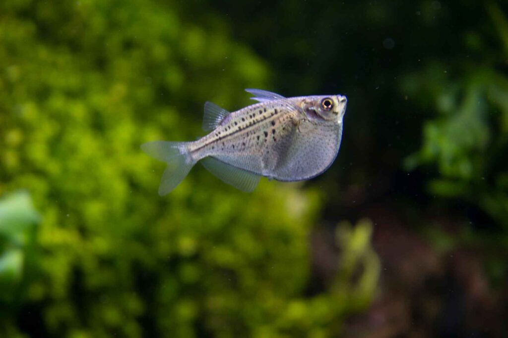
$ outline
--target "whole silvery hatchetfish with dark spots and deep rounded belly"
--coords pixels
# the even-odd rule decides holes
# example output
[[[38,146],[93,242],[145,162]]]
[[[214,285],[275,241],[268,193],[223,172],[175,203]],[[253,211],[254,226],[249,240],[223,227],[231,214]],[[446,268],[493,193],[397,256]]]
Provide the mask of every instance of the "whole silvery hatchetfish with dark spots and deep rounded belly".
[[[300,181],[320,175],[339,151],[347,99],[342,95],[286,98],[246,89],[259,103],[229,112],[205,103],[203,129],[192,142],[153,141],[141,148],[168,164],[158,193],[171,192],[200,161],[224,182],[245,192],[262,176]]]

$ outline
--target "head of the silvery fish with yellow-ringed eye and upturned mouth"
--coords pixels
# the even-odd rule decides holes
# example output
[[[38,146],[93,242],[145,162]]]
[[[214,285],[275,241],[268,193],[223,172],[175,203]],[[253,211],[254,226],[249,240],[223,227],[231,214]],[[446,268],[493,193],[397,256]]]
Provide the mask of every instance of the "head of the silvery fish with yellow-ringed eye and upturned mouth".
[[[309,120],[336,124],[342,123],[346,105],[347,98],[343,95],[308,96],[300,104]]]

